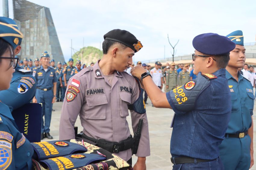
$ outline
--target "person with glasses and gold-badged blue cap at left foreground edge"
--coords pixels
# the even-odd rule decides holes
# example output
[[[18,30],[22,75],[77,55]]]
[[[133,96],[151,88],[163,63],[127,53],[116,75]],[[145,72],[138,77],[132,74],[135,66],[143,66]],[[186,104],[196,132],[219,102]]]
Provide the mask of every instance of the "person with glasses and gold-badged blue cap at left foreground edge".
[[[0,21],[2,20],[3,18],[1,17]],[[6,18],[6,20],[8,19]],[[0,91],[10,87],[12,74],[18,63],[18,58],[14,57],[14,50],[16,50],[22,37],[23,35],[13,26],[13,23],[0,22]],[[5,97],[8,98],[8,96]],[[19,132],[9,107],[1,101],[0,169],[30,170],[32,169],[31,157],[33,153],[32,145]]]

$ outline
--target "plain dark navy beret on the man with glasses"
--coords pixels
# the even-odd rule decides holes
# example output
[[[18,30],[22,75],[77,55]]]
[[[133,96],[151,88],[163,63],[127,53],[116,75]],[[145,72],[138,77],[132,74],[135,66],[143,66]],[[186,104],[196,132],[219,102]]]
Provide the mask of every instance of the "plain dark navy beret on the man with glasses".
[[[197,51],[208,55],[229,55],[236,47],[228,37],[214,33],[200,34],[193,39],[192,44]]]

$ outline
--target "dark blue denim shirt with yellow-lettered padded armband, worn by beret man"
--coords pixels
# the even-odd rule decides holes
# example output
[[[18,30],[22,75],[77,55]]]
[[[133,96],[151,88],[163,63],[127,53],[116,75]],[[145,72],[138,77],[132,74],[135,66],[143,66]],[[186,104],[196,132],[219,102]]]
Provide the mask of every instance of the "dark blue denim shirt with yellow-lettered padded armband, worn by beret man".
[[[213,73],[217,78],[207,79],[198,73],[195,80],[166,93],[176,113],[170,143],[172,157],[213,160],[219,156],[218,146],[231,114],[225,74],[226,69],[220,69]]]

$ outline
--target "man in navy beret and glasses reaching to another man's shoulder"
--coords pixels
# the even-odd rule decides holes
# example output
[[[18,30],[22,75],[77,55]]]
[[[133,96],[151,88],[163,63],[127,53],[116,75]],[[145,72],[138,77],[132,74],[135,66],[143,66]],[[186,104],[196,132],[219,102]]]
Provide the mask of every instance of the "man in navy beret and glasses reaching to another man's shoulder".
[[[153,105],[175,112],[170,153],[173,170],[223,170],[218,146],[231,115],[231,95],[225,67],[235,48],[229,38],[200,34],[193,39],[195,80],[163,93],[142,67],[131,70],[141,79]]]

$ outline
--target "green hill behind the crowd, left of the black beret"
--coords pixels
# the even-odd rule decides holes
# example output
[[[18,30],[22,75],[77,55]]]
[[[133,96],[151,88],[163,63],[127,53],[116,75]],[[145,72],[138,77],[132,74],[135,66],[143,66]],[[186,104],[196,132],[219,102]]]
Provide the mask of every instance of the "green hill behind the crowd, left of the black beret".
[[[81,48],[79,52],[72,55],[72,58],[74,59],[74,64],[78,59],[82,62],[82,64],[86,64],[88,66],[91,62],[97,62],[100,58],[102,58],[102,56],[103,52],[100,49],[88,46]]]

